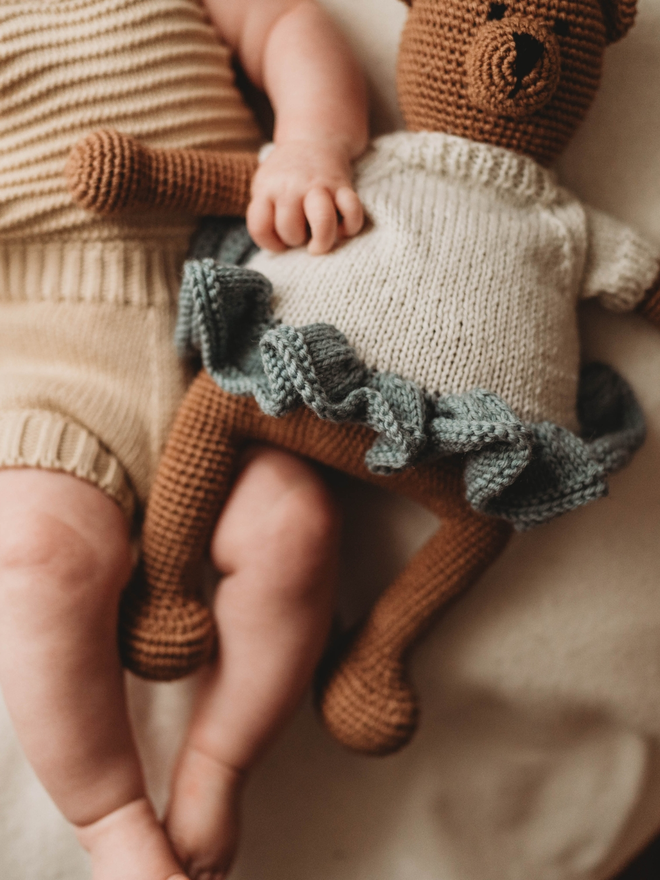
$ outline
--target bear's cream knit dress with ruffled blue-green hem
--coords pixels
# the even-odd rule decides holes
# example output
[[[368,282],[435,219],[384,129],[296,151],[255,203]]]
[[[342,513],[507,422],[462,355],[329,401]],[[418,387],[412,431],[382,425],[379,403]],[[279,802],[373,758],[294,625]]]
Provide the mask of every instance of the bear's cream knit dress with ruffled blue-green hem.
[[[265,412],[369,425],[373,470],[465,454],[471,503],[519,528],[602,495],[643,419],[613,371],[580,373],[577,306],[633,309],[660,249],[532,159],[443,133],[378,139],[355,186],[364,231],[253,256],[251,309],[235,270],[190,264],[184,347]]]

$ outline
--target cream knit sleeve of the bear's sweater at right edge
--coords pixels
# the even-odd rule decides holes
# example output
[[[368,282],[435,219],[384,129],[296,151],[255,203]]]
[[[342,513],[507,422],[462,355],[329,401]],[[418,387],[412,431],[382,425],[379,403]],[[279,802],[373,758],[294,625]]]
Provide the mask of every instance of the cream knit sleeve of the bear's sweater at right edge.
[[[635,308],[660,271],[660,247],[629,226],[585,207],[587,257],[580,296],[614,312]]]

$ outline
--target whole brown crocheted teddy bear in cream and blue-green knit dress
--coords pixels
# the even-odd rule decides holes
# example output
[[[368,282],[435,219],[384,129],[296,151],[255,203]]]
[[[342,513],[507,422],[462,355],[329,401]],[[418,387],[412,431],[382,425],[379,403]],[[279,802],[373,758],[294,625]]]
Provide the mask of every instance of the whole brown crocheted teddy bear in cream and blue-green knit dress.
[[[409,5],[398,59],[407,130],[357,163],[365,230],[323,257],[299,248],[185,268],[179,342],[203,369],[153,486],[144,579],[122,607],[124,654],[141,674],[173,678],[213,651],[186,574],[253,440],[427,506],[437,533],[322,676],[328,728],[373,754],[416,727],[405,658],[433,615],[513,528],[603,495],[643,440],[625,382],[604,365],[580,370],[578,302],[660,317],[658,248],[548,170],[634,0]],[[249,154],[149,150],[99,132],[68,175],[90,210],[240,215],[255,166]],[[230,245],[220,256],[244,250]]]

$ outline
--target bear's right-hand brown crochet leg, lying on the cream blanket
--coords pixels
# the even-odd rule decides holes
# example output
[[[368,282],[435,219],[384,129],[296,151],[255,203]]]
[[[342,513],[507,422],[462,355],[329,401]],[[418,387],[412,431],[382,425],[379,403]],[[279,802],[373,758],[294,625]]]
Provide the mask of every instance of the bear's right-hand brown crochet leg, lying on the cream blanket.
[[[418,469],[415,478],[424,470]],[[325,724],[339,742],[359,752],[390,754],[411,738],[418,704],[406,676],[406,653],[433,615],[497,558],[511,534],[507,523],[468,507],[454,463],[444,474],[436,468],[434,476],[434,491],[442,494],[425,499],[419,491],[405,494],[441,517],[438,531],[385,591],[348,652],[324,676],[319,703]],[[405,475],[395,477],[392,488],[404,491]]]

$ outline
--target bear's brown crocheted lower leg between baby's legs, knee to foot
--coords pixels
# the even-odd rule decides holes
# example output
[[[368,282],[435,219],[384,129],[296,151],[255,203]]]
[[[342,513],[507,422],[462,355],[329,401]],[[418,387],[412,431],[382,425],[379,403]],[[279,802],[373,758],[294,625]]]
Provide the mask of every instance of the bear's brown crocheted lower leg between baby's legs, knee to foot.
[[[145,517],[144,569],[120,608],[124,665],[145,678],[180,678],[215,648],[213,616],[186,578],[229,491],[238,453],[231,426],[244,400],[223,395],[202,371],[170,433]]]

